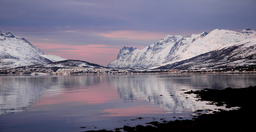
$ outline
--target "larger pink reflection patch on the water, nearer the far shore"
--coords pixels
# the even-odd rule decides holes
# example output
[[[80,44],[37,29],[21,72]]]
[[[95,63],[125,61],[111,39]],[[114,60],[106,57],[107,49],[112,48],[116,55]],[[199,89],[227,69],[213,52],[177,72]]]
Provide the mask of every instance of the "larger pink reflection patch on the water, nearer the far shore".
[[[75,88],[74,88],[75,89]],[[119,95],[115,88],[108,85],[96,88],[77,88],[72,91],[61,91],[59,95],[51,95],[51,93],[45,93],[43,98],[39,99],[39,102],[35,102],[34,105],[48,105],[48,104],[64,104],[69,105],[77,104],[103,104],[110,102],[110,100],[119,99]]]

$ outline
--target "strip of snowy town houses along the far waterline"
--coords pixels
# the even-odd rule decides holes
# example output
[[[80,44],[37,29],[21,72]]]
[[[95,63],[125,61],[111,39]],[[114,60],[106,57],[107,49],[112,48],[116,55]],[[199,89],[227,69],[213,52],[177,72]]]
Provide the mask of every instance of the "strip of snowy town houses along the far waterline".
[[[94,75],[94,74],[173,74],[173,73],[256,73],[253,68],[217,68],[196,70],[130,69],[130,68],[4,68],[1,75]]]

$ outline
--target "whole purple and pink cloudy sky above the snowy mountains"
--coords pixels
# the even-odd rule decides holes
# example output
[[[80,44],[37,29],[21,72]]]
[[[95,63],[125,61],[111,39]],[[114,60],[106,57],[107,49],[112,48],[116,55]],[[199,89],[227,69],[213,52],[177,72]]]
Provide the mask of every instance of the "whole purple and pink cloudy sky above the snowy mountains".
[[[214,29],[256,30],[255,0],[8,0],[0,3],[1,31],[24,37],[47,54],[56,51],[67,58],[104,65],[106,61],[114,61],[121,47],[143,48],[166,34],[187,36]]]

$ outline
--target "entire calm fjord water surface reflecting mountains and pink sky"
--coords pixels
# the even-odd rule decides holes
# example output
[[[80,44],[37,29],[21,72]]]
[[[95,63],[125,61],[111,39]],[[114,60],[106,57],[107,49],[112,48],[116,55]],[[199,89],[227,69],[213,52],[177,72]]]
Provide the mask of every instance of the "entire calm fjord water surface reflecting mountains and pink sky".
[[[224,107],[184,92],[254,85],[255,74],[0,76],[0,131],[113,130],[191,119],[195,110]]]

